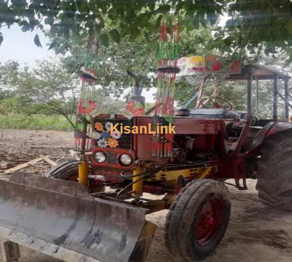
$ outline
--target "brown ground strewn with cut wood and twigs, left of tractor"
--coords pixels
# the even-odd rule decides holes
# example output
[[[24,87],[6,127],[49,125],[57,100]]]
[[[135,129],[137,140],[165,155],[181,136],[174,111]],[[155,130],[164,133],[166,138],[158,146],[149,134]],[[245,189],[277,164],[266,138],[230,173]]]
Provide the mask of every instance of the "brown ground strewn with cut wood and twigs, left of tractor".
[[[17,170],[42,175],[53,166],[76,158],[72,147],[58,146],[54,132],[43,133],[8,130],[0,134],[0,178]]]

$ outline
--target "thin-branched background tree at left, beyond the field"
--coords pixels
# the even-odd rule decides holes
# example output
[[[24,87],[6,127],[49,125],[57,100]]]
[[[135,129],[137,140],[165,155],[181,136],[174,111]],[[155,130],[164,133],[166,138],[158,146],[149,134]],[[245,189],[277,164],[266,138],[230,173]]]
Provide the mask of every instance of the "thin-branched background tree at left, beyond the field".
[[[1,103],[2,112],[22,114],[49,110],[64,116],[72,126],[79,89],[78,77],[59,61],[37,61],[35,69],[8,61],[0,67],[0,86],[10,98]]]

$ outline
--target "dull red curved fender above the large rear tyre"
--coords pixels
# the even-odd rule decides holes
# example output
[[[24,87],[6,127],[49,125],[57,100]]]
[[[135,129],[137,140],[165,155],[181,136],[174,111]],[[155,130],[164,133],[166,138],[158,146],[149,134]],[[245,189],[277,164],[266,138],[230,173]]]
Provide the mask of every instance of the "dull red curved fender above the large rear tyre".
[[[269,122],[266,124],[260,132],[255,136],[253,142],[248,148],[248,151],[252,151],[263,143],[265,138],[281,133],[285,130],[292,129],[292,123],[289,122]]]

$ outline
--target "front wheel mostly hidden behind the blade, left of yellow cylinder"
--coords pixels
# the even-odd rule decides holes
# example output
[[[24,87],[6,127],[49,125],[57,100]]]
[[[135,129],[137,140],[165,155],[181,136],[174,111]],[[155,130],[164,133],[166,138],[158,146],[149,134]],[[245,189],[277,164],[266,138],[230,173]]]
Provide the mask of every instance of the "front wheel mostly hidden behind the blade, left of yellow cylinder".
[[[78,182],[78,161],[70,160],[47,171],[44,177]]]

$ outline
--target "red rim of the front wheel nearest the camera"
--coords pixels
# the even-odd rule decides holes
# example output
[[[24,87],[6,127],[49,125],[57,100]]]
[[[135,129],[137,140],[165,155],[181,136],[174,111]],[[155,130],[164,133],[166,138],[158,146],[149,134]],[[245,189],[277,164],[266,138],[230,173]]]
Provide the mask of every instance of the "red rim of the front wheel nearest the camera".
[[[221,228],[223,201],[213,197],[203,206],[195,226],[195,241],[201,247],[210,244]]]

